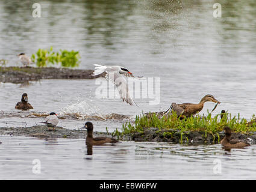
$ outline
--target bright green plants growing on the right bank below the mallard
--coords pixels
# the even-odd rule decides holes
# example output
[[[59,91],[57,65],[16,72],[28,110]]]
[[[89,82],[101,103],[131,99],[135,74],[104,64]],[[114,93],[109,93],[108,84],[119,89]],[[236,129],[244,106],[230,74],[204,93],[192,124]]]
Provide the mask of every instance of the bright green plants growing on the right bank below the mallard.
[[[256,131],[256,119],[253,115],[250,121],[245,118],[240,118],[240,114],[236,117],[232,117],[230,113],[226,113],[222,119],[218,118],[220,116],[211,116],[208,113],[207,116],[191,116],[189,118],[180,119],[176,114],[170,115],[169,117],[163,116],[163,118],[158,118],[155,114],[148,116],[140,115],[136,116],[135,122],[132,125],[130,122],[123,124],[122,133],[119,135],[125,135],[129,133],[142,133],[145,128],[155,127],[158,130],[180,130],[181,138],[184,132],[187,131],[204,131],[204,136],[207,134],[216,134],[223,130],[223,127],[228,126],[234,132],[248,133],[251,131]],[[164,133],[167,136],[167,133]],[[217,135],[217,140],[219,142],[220,138]],[[215,137],[214,137],[215,140]]]

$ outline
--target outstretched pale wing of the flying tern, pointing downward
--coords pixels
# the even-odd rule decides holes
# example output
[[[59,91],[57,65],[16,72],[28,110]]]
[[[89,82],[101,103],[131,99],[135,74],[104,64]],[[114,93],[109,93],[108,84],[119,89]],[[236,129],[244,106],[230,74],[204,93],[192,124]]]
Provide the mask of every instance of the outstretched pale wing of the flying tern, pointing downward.
[[[130,104],[131,106],[137,106],[137,104],[134,102],[133,98],[130,95],[129,86],[125,77],[115,71],[107,73],[106,78],[107,80],[110,80],[110,82],[114,83],[123,101]]]

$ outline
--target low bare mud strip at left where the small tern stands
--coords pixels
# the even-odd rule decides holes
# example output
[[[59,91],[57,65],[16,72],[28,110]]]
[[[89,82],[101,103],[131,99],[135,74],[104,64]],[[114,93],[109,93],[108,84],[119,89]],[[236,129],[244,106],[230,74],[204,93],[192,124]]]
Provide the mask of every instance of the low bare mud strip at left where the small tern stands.
[[[84,139],[86,138],[86,130],[69,130],[62,127],[56,127],[55,130],[48,130],[46,126],[33,126],[33,127],[1,127],[0,135],[11,135],[11,136],[28,136],[28,137],[39,137],[39,138],[70,138],[70,139]],[[108,136],[111,134],[103,132],[93,132],[96,136]]]

